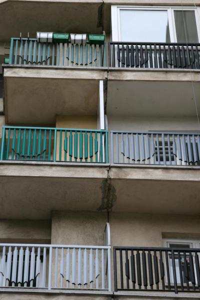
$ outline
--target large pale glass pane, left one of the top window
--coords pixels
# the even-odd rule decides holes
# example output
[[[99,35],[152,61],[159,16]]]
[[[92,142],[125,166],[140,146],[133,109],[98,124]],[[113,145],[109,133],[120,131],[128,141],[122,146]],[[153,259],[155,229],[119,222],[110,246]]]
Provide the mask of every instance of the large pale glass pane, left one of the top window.
[[[170,42],[167,10],[120,9],[120,33],[121,41]]]

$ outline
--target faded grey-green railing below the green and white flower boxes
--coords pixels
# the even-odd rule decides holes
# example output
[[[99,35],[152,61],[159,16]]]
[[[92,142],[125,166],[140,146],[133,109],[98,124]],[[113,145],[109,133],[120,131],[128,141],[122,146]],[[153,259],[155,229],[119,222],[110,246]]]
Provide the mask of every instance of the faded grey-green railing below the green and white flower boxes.
[[[9,64],[106,66],[106,45],[37,42],[36,38],[12,37]]]

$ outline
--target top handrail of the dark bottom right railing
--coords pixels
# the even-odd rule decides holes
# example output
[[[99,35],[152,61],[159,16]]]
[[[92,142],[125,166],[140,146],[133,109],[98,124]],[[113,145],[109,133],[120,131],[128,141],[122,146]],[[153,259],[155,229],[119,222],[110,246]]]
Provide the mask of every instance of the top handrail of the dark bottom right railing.
[[[131,247],[131,246],[113,246],[113,250],[155,250],[155,251],[192,251],[199,252],[200,248],[173,248],[173,247]]]

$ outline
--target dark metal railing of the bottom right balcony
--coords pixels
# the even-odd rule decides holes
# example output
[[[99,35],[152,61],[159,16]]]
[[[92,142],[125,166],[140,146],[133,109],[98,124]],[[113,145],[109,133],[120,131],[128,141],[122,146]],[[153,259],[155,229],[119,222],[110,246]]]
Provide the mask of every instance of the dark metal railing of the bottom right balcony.
[[[199,291],[200,249],[114,247],[114,290]]]

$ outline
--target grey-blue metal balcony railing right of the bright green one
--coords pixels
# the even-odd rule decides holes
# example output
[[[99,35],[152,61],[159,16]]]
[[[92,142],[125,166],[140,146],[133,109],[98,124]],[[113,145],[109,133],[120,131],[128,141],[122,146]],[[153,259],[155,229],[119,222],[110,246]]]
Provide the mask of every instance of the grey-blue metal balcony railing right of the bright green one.
[[[199,133],[111,131],[111,163],[199,165]]]

